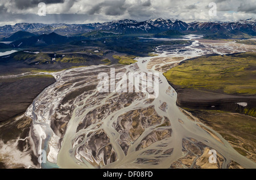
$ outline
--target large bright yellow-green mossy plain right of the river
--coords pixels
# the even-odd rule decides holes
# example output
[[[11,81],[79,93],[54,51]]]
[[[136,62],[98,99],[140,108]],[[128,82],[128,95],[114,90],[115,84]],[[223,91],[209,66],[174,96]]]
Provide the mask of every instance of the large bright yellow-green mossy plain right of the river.
[[[164,76],[180,88],[255,95],[255,58],[255,52],[203,56],[182,62]]]

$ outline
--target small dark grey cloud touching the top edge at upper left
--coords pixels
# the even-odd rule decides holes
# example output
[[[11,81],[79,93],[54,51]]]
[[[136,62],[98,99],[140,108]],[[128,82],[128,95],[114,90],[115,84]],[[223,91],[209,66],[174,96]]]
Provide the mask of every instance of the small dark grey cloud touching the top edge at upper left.
[[[16,8],[23,10],[29,7],[38,6],[39,2],[46,4],[64,3],[64,0],[12,0],[15,3]]]

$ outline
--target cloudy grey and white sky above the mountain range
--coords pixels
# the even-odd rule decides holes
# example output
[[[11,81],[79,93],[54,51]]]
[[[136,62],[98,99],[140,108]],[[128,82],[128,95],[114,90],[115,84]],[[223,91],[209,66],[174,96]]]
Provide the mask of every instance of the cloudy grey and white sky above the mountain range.
[[[46,16],[39,16],[40,2]],[[209,3],[216,3],[210,16]],[[213,11],[211,11],[213,12]],[[118,19],[256,19],[255,0],[0,0],[0,25],[15,23],[94,23]]]

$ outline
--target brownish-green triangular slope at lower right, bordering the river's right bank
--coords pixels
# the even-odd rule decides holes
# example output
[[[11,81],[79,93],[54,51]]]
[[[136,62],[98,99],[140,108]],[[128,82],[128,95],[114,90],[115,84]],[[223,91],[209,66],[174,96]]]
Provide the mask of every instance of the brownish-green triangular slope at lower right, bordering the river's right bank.
[[[255,161],[256,121],[254,117],[217,110],[187,109],[205,125],[217,131],[243,156]],[[249,155],[249,156],[247,156]]]

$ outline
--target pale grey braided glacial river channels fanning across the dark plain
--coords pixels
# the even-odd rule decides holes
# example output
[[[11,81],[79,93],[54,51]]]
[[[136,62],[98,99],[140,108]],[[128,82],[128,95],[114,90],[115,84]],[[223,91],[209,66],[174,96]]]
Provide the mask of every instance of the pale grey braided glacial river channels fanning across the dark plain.
[[[193,35],[186,36],[186,39],[194,40],[192,45],[184,47],[184,51],[170,50],[167,52],[160,50],[161,47],[159,47],[157,53],[159,54],[159,57],[184,57],[185,59],[207,54],[207,52],[198,48],[199,44],[195,38],[198,37]],[[155,71],[155,66],[150,70],[147,68],[147,64],[150,62],[151,58],[153,57],[137,58],[136,60],[138,62],[135,63],[135,65],[118,68],[125,72],[157,72]],[[166,65],[166,63],[163,63],[162,65]],[[96,133],[98,130],[102,130],[106,135],[108,135],[109,143],[112,144],[113,151],[117,155],[117,160],[115,162],[100,165],[101,168],[170,168],[172,162],[179,160],[181,157],[185,157],[183,151],[184,139],[193,139],[194,142],[201,142],[205,144],[205,146],[216,150],[218,152],[217,156],[220,155],[224,158],[221,168],[226,168],[231,161],[235,161],[245,168],[256,167],[253,161],[235,151],[220,134],[214,130],[210,130],[200,122],[192,121],[187,117],[187,115],[182,113],[179,107],[176,106],[177,93],[174,88],[168,84],[162,73],[159,73],[159,96],[155,98],[154,101],[146,103],[148,96],[140,96],[129,106],[122,107],[115,110],[113,113],[104,115],[103,118],[101,118],[101,121],[94,122],[88,128],[77,131],[77,127],[81,125],[81,122],[85,117],[90,115],[92,110],[105,105],[106,101],[110,98],[121,96],[116,93],[108,93],[107,95],[99,96],[97,89],[95,89],[89,94],[80,98],[75,98],[73,101],[75,107],[73,109],[70,106],[60,107],[63,97],[67,96],[72,89],[79,87],[79,85],[75,84],[79,82],[79,78],[81,78],[81,76],[85,79],[89,79],[91,77],[89,75],[90,73],[97,75],[102,71],[109,71],[109,67],[90,66],[55,72],[52,75],[55,76],[57,82],[45,89],[35,99],[30,108],[28,108],[26,115],[31,117],[34,122],[32,132],[34,132],[33,139],[35,140],[36,149],[38,151],[42,148],[47,152],[47,163],[42,164],[42,168],[56,168],[57,166],[59,168],[96,168],[96,164],[99,163],[97,160],[93,160],[88,153],[83,154],[79,152],[81,145],[88,143],[86,142],[86,138],[81,140],[79,143],[76,143],[76,139],[82,134],[85,134],[88,137],[90,134]],[[76,80],[76,83],[68,83],[71,79]],[[97,79],[94,79],[94,82],[92,80],[91,82],[86,83],[88,83],[88,85],[97,84]],[[58,87],[63,87],[63,89],[61,91],[57,91]],[[93,99],[93,101],[91,99]],[[97,104],[90,106],[90,102],[94,102],[96,100]],[[159,108],[163,102],[166,102],[166,110]],[[118,101],[115,103],[118,103]],[[148,134],[153,132],[157,126],[146,127],[142,135],[130,144],[127,154],[125,154],[118,143],[122,134],[115,128],[115,125],[118,122],[118,117],[124,113],[138,109],[145,109],[149,106],[154,106],[158,115],[169,119],[172,129],[171,136],[152,143],[146,149],[138,150],[136,149],[138,144],[141,143]],[[57,109],[61,108],[66,109],[66,112],[61,112],[62,114],[60,111],[57,112]],[[61,147],[58,145],[58,142],[60,141],[60,134],[52,130],[52,119],[56,114],[58,114],[58,117],[61,117],[61,115],[65,117],[65,115],[67,116],[67,114],[71,114],[70,120],[67,122],[67,130],[65,131],[64,138],[61,140]],[[208,128],[218,137],[219,140],[214,138],[199,125],[201,127]],[[173,148],[173,151],[170,156],[156,157],[154,153],[148,153],[147,155],[143,154],[145,150],[158,149],[160,151],[167,151],[171,148]],[[101,157],[101,155],[98,156]],[[160,163],[156,163],[154,166],[152,166],[151,163],[139,164],[137,163],[138,157],[146,158],[147,160],[160,159]],[[89,160],[92,161],[90,162]]]

